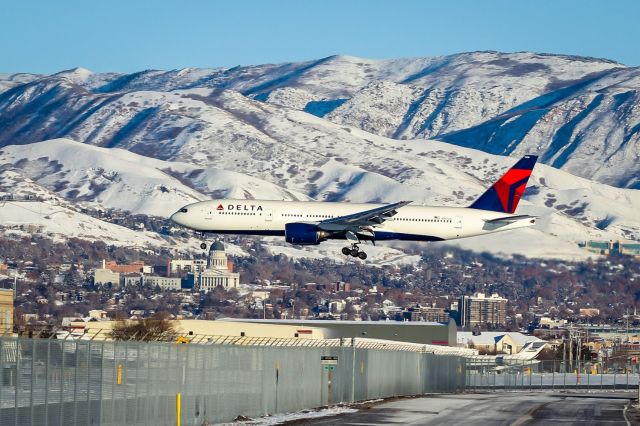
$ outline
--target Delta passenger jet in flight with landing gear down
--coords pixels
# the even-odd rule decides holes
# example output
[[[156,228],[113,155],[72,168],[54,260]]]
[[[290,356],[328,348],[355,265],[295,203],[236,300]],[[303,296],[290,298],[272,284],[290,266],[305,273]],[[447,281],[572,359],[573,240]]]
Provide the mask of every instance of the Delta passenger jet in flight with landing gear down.
[[[538,157],[525,155],[469,207],[356,204],[322,201],[216,199],[189,204],[171,220],[207,233],[284,236],[298,245],[346,240],[342,253],[365,260],[370,241],[444,241],[533,226],[535,216],[514,214]],[[202,242],[205,250],[207,245]]]

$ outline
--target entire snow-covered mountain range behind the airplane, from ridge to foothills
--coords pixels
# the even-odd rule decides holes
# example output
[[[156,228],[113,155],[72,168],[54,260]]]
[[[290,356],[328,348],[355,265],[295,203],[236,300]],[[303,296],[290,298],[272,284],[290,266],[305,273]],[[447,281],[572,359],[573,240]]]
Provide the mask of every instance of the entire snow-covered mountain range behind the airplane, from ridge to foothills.
[[[491,246],[455,244],[579,257],[581,240],[640,239],[640,192],[623,189],[640,185],[638,73],[602,59],[475,52],[0,74],[0,191],[54,200],[73,218],[62,228],[46,219],[47,232],[64,235],[75,223],[69,235],[88,238],[104,234],[93,231],[100,224],[83,216],[86,207],[167,217],[210,197],[463,206],[514,157],[538,153],[555,168],[536,167],[519,211],[540,216],[539,225],[498,234]],[[0,209],[0,220],[37,219],[19,213]],[[339,249],[272,243],[296,256]],[[410,261],[397,250],[373,251],[374,262]]]

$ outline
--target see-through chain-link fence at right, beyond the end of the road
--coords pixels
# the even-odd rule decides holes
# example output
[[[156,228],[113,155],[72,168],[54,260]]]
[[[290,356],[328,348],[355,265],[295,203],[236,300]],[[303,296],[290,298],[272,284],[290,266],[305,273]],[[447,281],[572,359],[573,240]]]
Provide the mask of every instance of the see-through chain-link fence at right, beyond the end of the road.
[[[467,389],[474,390],[631,390],[638,389],[635,365],[602,368],[598,363],[562,360],[467,358]]]

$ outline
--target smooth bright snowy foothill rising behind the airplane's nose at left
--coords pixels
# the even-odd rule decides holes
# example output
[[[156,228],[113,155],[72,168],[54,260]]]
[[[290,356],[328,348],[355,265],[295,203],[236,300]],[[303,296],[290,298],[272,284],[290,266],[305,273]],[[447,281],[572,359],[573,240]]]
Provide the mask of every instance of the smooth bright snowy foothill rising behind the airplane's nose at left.
[[[19,172],[71,200],[160,217],[210,195],[308,198],[237,172],[162,161],[69,139],[5,147],[0,151],[0,165],[15,168],[5,173]]]

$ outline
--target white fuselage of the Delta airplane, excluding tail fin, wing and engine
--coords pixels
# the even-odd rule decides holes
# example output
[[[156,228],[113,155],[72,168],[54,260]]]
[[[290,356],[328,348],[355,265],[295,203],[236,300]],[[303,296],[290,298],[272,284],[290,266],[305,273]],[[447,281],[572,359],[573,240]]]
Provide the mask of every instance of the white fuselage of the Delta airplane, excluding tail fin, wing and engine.
[[[211,233],[284,235],[293,222],[318,223],[384,204],[319,201],[210,200],[185,206],[171,220],[187,228]],[[532,226],[532,218],[511,223],[488,220],[513,216],[466,207],[408,205],[373,227],[375,240],[440,241]]]

